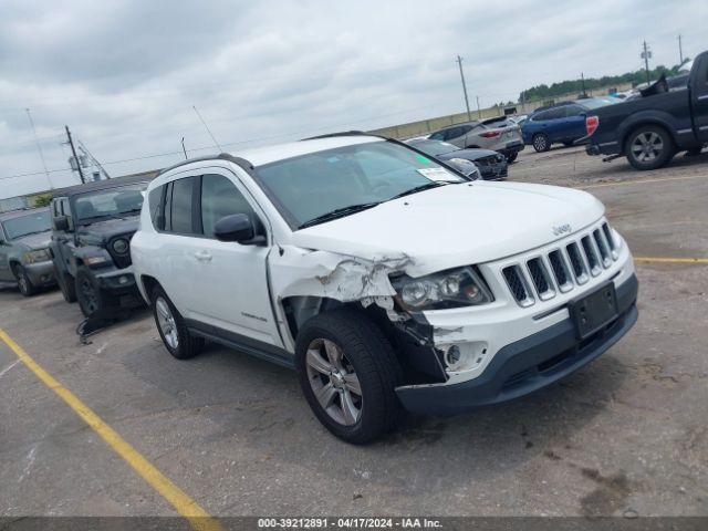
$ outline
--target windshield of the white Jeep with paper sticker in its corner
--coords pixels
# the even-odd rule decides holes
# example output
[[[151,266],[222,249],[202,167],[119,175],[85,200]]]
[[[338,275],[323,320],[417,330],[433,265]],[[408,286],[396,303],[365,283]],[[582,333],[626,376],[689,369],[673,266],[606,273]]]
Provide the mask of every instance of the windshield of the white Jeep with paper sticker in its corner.
[[[302,155],[259,166],[256,173],[292,228],[337,209],[387,201],[423,185],[466,180],[389,142]]]

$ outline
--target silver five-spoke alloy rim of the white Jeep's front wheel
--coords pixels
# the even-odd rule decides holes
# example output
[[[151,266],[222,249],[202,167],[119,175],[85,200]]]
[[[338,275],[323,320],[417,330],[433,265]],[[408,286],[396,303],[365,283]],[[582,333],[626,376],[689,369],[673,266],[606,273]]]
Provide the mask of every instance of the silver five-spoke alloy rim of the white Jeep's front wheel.
[[[305,355],[308,379],[322,409],[344,426],[356,424],[364,398],[358,376],[342,348],[334,342],[315,339]]]

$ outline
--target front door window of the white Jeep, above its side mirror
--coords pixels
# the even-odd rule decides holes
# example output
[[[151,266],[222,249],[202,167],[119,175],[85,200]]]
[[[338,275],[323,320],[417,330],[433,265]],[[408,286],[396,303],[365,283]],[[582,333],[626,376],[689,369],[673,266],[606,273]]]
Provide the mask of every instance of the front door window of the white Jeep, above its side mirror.
[[[222,175],[205,175],[201,178],[201,226],[207,238],[214,238],[214,227],[225,216],[256,212],[233,183]]]

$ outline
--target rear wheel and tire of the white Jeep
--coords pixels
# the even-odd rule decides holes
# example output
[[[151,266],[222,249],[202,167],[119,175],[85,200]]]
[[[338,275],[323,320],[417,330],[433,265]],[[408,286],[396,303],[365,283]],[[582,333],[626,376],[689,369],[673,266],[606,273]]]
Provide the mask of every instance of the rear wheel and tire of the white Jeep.
[[[167,352],[177,360],[189,360],[199,354],[205,345],[204,337],[189,333],[185,320],[159,285],[155,287],[150,295],[150,309]]]

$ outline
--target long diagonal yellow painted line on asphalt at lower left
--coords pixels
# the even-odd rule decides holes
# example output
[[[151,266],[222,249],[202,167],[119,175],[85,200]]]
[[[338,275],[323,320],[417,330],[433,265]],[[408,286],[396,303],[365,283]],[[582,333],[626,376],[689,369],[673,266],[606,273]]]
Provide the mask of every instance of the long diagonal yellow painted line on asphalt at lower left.
[[[175,510],[186,518],[191,527],[199,531],[220,530],[219,522],[205,511],[199,504],[189,498],[179,487],[165,477],[153,464],[145,459],[133,446],[121,437],[111,426],[104,423],[98,415],[81,402],[76,395],[60,384],[42,366],[37,363],[24,350],[18,345],[2,329],[2,340],[20,361],[32,371],[50,389],[56,393],[76,415],[79,415],[103,440],[127,462],[138,476],[159,492]]]

